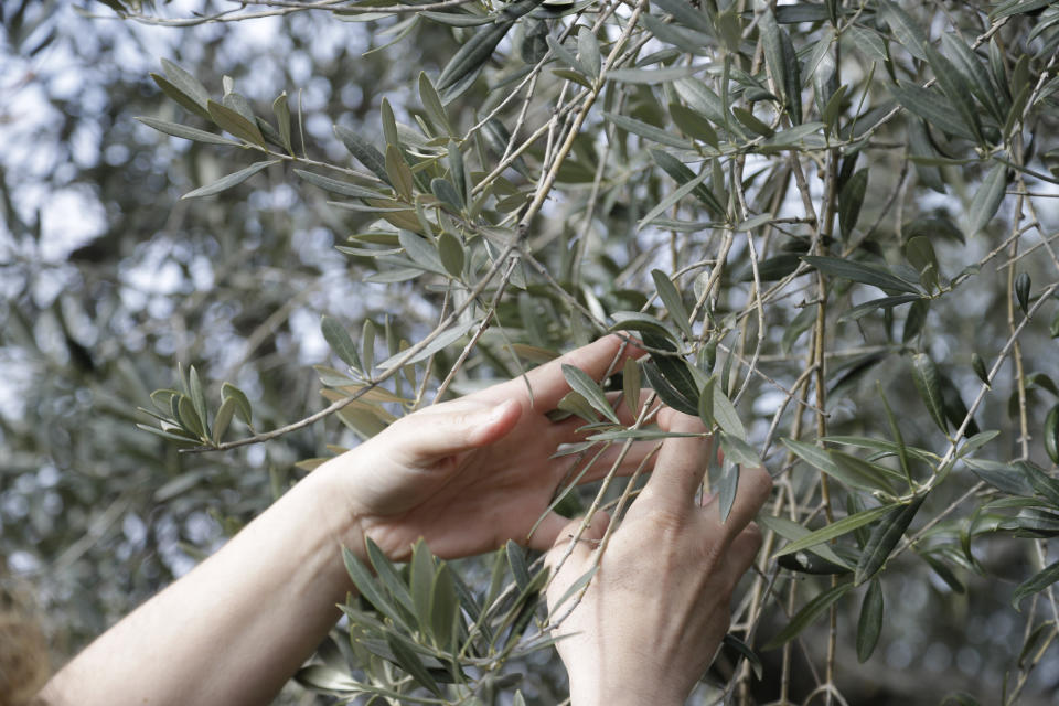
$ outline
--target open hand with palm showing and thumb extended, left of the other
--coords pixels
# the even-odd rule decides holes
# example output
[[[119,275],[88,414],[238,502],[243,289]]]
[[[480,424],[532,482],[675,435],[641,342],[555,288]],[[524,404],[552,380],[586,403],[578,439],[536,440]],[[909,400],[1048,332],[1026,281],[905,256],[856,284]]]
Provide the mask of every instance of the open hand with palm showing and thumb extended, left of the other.
[[[549,512],[527,535],[574,462],[552,456],[584,438],[582,420],[545,416],[570,391],[563,365],[599,379],[620,346],[621,339],[607,336],[523,377],[424,408],[313,473],[331,477],[353,524],[395,559],[407,557],[419,537],[440,556],[478,554],[507,539],[546,549],[564,517]],[[619,370],[639,353],[625,347]],[[628,417],[624,405],[622,411]],[[582,481],[606,473],[619,451],[611,447]],[[631,473],[649,451],[648,442],[634,443],[619,472]]]

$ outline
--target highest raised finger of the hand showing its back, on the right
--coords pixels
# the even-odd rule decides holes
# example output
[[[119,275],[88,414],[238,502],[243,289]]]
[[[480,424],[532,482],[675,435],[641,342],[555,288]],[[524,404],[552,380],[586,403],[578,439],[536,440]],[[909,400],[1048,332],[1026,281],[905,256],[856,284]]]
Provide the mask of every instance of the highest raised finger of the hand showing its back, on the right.
[[[698,417],[673,411],[665,416],[666,431],[700,434],[706,427]],[[660,425],[663,420],[660,419]],[[671,437],[662,443],[654,472],[644,491],[671,503],[672,507],[691,506],[695,491],[703,482],[712,443],[703,437]]]

